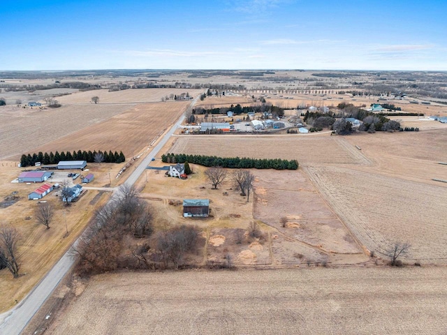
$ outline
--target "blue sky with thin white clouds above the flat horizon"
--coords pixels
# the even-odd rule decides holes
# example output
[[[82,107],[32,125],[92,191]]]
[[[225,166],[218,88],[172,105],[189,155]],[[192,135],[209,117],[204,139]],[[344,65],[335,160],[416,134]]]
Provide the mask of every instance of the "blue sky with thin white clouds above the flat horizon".
[[[0,70],[447,70],[446,0],[2,0]]]

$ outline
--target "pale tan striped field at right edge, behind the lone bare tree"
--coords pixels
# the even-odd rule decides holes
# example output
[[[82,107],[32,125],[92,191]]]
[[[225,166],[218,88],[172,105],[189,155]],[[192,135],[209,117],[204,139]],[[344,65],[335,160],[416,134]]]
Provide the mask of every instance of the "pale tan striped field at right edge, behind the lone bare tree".
[[[312,181],[369,251],[411,244],[409,261],[447,260],[447,187],[339,167],[307,167]]]

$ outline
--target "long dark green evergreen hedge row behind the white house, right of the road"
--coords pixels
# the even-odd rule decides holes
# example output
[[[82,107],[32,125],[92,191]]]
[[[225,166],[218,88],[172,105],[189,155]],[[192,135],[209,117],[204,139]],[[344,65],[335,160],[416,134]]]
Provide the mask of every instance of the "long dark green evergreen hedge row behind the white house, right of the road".
[[[275,170],[296,170],[298,161],[287,161],[286,159],[256,159],[256,158],[224,158],[217,156],[186,155],[186,154],[163,154],[163,163],[193,163],[210,166],[221,166],[230,169],[275,169]]]

